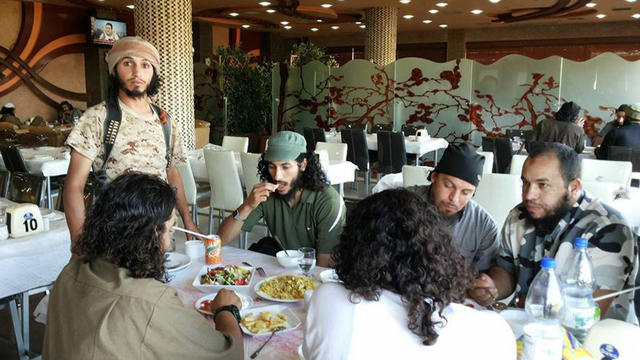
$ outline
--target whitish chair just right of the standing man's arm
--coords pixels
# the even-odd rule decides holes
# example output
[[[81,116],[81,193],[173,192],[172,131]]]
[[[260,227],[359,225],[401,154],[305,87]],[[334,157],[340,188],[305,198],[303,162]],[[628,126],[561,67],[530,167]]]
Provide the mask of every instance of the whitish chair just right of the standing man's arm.
[[[204,161],[209,175],[211,199],[209,201],[209,234],[213,234],[213,212],[220,212],[224,219],[225,211],[237,209],[244,201],[240,175],[232,151],[203,149]],[[221,221],[221,220],[220,220]],[[240,233],[240,247],[246,249],[246,234]]]

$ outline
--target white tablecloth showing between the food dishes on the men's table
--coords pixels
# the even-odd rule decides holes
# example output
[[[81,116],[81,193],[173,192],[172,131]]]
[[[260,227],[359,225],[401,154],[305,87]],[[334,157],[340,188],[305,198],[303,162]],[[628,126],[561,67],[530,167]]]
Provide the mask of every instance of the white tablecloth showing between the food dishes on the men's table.
[[[253,251],[241,250],[233,247],[225,246],[222,248],[222,263],[225,265],[240,265],[243,261],[247,261],[251,263],[253,266],[262,266],[267,273],[267,276],[279,275],[282,273],[295,273],[300,274],[300,270],[297,268],[294,269],[285,269],[280,264],[278,264],[277,260],[273,256],[259,254]],[[169,283],[170,286],[174,287],[178,290],[178,294],[180,295],[180,299],[184,303],[184,306],[187,308],[192,308],[195,311],[195,303],[196,301],[206,294],[200,292],[198,289],[194,288],[191,283],[193,279],[198,274],[198,271],[204,266],[203,260],[199,260],[197,262],[193,262],[189,267],[184,270],[181,270],[175,273],[175,277]],[[319,274],[324,268],[316,268],[312,271],[312,273],[316,276]],[[293,312],[300,318],[302,324],[295,330],[287,331],[284,333],[277,334],[271,339],[269,344],[265,346],[264,349],[260,352],[260,359],[274,359],[274,360],[298,360],[297,349],[298,346],[302,344],[304,338],[304,323],[306,320],[306,312],[303,308],[302,302],[298,303],[276,303],[268,300],[263,300],[257,297],[255,291],[253,291],[253,287],[257,284],[262,278],[256,273],[254,274],[253,279],[250,283],[250,296],[254,299],[254,307],[258,308],[260,306],[267,305],[285,305],[287,307],[292,308]],[[212,326],[213,326],[213,322]],[[251,337],[244,336],[244,356],[245,359],[249,359],[249,355],[253,353],[265,340],[267,337],[259,336],[259,337]]]

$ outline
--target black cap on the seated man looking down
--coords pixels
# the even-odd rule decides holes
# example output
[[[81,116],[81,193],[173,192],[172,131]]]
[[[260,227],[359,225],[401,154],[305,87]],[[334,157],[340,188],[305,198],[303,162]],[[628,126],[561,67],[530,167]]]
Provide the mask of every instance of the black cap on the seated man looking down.
[[[471,144],[449,144],[433,171],[451,175],[473,186],[478,186],[483,166],[484,156],[478,154]]]

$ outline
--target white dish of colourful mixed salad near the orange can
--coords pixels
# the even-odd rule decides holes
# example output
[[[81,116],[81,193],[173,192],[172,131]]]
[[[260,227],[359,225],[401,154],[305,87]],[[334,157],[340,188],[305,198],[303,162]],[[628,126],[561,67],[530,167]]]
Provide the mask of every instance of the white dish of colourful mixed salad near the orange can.
[[[220,289],[229,289],[237,292],[249,292],[249,285],[253,278],[254,269],[249,266],[239,265],[205,265],[196,278],[193,279],[193,287],[204,292],[213,293]]]

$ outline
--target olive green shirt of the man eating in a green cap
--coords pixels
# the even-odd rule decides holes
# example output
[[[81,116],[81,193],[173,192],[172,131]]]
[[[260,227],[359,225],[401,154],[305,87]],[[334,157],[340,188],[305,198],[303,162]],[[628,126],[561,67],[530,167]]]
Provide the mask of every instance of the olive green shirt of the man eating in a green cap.
[[[278,235],[287,249],[306,246],[318,254],[330,254],[340,240],[345,215],[344,201],[333,187],[303,189],[294,207],[270,196],[249,214],[242,230],[251,231],[264,218],[271,234]]]

